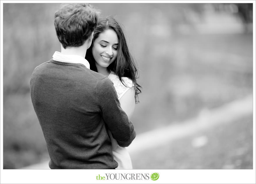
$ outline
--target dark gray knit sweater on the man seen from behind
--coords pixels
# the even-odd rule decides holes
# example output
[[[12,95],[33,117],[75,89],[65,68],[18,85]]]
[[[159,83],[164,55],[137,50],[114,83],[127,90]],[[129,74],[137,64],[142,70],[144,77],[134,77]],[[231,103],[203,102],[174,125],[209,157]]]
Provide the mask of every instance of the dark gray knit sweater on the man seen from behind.
[[[51,169],[115,169],[109,129],[122,147],[135,138],[108,77],[82,64],[54,60],[35,68],[33,107],[42,127]]]

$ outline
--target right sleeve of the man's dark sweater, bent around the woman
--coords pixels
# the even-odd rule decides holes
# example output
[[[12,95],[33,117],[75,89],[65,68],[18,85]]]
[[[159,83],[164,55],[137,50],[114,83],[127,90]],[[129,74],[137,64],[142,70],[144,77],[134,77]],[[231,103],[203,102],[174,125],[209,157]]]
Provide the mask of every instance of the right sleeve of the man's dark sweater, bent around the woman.
[[[134,126],[121,109],[115,88],[108,77],[99,80],[96,88],[96,100],[102,111],[102,117],[113,138],[121,147],[127,147],[136,136]]]

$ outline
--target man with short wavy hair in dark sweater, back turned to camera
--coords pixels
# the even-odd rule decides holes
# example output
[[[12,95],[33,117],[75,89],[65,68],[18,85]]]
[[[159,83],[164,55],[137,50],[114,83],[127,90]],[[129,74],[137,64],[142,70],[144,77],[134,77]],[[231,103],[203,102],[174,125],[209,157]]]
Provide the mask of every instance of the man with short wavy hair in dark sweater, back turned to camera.
[[[51,169],[115,169],[107,130],[122,147],[136,136],[112,82],[90,70],[84,59],[97,15],[90,5],[64,4],[54,21],[61,53],[55,52],[31,76],[31,99]]]

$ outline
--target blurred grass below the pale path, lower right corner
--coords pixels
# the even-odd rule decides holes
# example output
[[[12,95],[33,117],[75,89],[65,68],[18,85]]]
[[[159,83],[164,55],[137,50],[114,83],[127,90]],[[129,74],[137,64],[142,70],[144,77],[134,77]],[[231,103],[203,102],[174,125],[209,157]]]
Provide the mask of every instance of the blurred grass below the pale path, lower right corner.
[[[244,117],[132,154],[134,169],[253,169],[253,119]],[[193,147],[193,139],[207,143]],[[142,156],[144,155],[144,156]]]

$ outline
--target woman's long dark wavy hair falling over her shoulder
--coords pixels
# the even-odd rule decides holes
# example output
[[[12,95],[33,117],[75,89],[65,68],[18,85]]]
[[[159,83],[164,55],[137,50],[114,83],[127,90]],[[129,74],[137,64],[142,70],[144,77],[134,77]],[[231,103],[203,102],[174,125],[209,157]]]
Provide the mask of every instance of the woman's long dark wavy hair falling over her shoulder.
[[[107,70],[109,72],[113,71],[119,77],[119,80],[122,82],[122,84],[124,84],[124,82],[122,81],[121,77],[128,77],[132,80],[135,89],[135,102],[138,103],[138,94],[141,93],[141,86],[136,81],[136,79],[138,78],[138,70],[134,62],[134,59],[128,50],[128,46],[126,44],[126,39],[122,31],[122,28],[118,21],[116,21],[112,16],[106,18],[99,18],[97,22],[97,27],[94,31],[92,45],[86,51],[85,59],[87,59],[90,63],[90,69],[98,72],[97,67],[95,65],[96,61],[93,57],[92,48],[94,40],[97,39],[99,34],[108,29],[112,29],[117,34],[118,52],[116,59],[107,67]],[[126,86],[126,84],[124,85]]]

